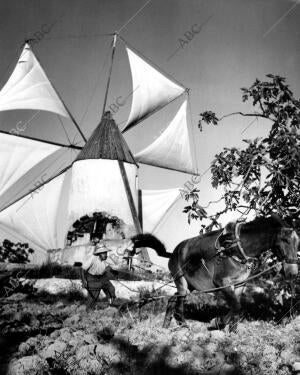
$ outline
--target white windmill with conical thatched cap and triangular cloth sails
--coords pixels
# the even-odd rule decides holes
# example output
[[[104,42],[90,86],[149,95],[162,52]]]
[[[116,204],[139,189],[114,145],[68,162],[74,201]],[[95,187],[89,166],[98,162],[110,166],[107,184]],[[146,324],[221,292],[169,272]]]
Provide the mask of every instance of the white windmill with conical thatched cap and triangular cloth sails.
[[[133,84],[131,111],[122,132],[106,111],[118,38],[125,44]],[[179,190],[140,190],[138,167],[148,164],[197,174],[188,130],[187,97],[184,86],[114,34],[102,118],[87,140],[26,43],[0,91],[0,111],[35,109],[69,118],[85,145],[0,132],[1,234],[28,242],[37,251],[35,261],[46,259],[50,253],[56,261],[73,264],[91,253],[87,236],[81,242],[72,242],[76,225],[85,219],[90,225],[89,219],[94,217],[89,235],[97,231],[99,215],[107,223],[118,222],[115,231],[108,233],[111,226],[104,228],[105,239],[113,250],[116,240],[126,241],[142,230],[153,232],[179,198]],[[152,144],[133,155],[123,134],[178,98],[184,101],[169,126]],[[33,182],[41,176],[37,186]],[[141,259],[149,261],[146,249]]]

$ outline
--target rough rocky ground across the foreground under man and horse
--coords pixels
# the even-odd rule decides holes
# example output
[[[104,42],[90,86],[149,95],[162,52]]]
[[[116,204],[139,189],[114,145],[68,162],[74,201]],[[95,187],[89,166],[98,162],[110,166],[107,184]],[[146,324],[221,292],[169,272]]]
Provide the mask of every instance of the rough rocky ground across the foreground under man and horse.
[[[84,297],[70,301],[45,291],[0,302],[1,374],[291,375],[300,362],[300,316],[244,320],[229,333],[195,320],[189,328],[173,322],[163,329],[163,299],[141,310],[102,301],[93,312]]]

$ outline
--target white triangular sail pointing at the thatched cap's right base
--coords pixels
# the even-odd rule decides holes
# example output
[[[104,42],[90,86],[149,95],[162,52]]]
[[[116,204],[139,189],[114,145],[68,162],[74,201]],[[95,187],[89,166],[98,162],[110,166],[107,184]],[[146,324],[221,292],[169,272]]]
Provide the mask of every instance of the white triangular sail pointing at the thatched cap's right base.
[[[196,174],[189,143],[184,101],[170,125],[148,147],[135,155],[138,162]]]

